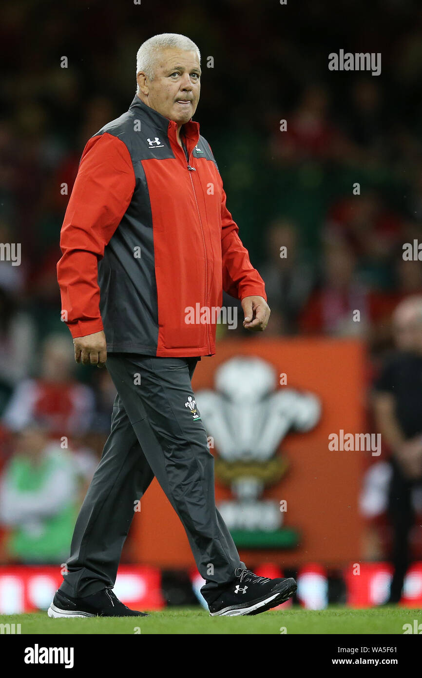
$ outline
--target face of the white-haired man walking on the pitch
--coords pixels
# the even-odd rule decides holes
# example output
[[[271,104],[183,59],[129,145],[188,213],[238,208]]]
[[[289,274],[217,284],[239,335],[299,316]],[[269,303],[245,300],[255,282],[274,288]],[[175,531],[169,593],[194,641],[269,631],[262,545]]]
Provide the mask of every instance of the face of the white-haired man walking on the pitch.
[[[156,60],[154,80],[138,74],[141,98],[154,111],[183,125],[198,106],[200,77],[201,66],[196,52],[163,49]]]

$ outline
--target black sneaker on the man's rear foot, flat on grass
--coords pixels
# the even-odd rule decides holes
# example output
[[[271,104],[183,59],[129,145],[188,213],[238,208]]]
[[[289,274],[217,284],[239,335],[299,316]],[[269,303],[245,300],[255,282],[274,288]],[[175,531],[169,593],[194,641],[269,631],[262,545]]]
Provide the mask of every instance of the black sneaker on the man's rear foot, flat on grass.
[[[53,602],[48,608],[49,617],[148,617],[146,612],[129,610],[129,607],[117,598],[111,586],[92,593],[85,598],[72,598],[56,591]]]

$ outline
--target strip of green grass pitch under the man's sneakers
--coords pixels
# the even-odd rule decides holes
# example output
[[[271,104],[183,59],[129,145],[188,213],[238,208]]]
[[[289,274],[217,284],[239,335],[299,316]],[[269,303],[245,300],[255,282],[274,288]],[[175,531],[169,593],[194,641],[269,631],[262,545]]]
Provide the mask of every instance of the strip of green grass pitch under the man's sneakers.
[[[403,624],[422,622],[422,610],[377,607],[351,610],[331,606],[326,610],[272,610],[257,616],[210,617],[196,608],[172,607],[149,617],[49,619],[46,612],[0,615],[0,624],[20,624],[24,634],[135,634],[141,635],[242,635],[242,634],[402,634]],[[284,631],[285,629],[285,631]],[[4,631],[3,631],[4,633]]]

